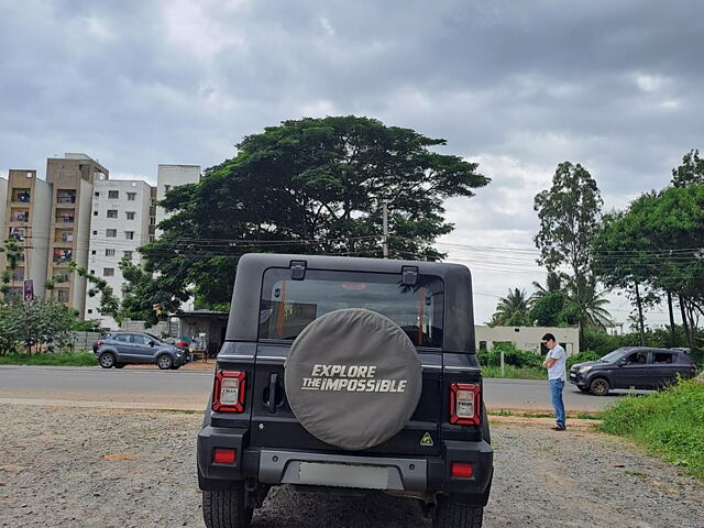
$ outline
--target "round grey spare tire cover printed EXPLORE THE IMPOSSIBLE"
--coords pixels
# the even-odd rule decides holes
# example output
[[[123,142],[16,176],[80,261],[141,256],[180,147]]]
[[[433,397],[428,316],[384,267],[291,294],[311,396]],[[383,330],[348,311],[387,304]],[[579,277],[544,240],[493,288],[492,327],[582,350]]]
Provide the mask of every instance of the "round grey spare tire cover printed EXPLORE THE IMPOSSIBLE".
[[[284,385],[298,421],[345,450],[378,446],[416,410],[422,372],[416,348],[394,321],[361,308],[331,311],[296,338]]]

